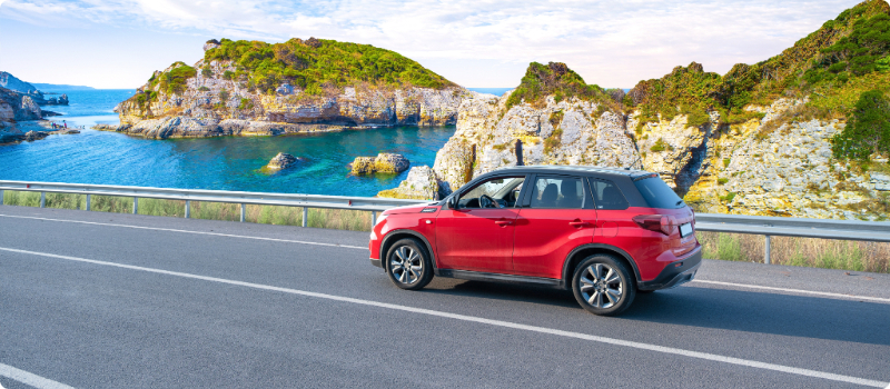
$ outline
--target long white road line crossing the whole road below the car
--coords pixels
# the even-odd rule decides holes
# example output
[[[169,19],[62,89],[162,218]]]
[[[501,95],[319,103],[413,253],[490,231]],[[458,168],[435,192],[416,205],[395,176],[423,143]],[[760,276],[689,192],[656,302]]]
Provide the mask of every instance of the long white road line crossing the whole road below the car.
[[[141,270],[141,271],[158,273],[158,275],[176,276],[176,277],[190,278],[190,279],[197,279],[197,280],[204,280],[204,281],[212,281],[212,282],[219,282],[219,283],[240,286],[240,287],[246,287],[246,288],[271,290],[271,291],[284,292],[284,293],[315,297],[315,298],[320,298],[320,299],[350,302],[350,303],[357,303],[357,305],[370,306],[370,307],[378,307],[378,308],[386,308],[386,309],[394,309],[394,310],[400,310],[400,311],[406,311],[406,312],[429,315],[429,316],[435,316],[435,317],[441,317],[441,318],[448,318],[448,319],[455,319],[455,320],[478,322],[478,323],[484,323],[484,325],[490,325],[490,326],[506,327],[506,328],[513,328],[513,329],[533,331],[533,332],[540,332],[540,333],[548,333],[548,335],[555,335],[555,336],[560,336],[560,337],[583,339],[583,340],[590,340],[590,341],[595,341],[595,342],[601,342],[601,343],[609,343],[609,345],[630,347],[630,348],[641,349],[641,350],[650,350],[650,351],[657,351],[657,352],[664,352],[664,353],[672,353],[672,355],[678,355],[678,356],[699,358],[699,359],[705,359],[705,360],[731,363],[731,365],[740,365],[740,366],[746,366],[746,367],[765,369],[765,370],[781,371],[781,372],[788,372],[788,373],[792,373],[792,375],[807,376],[807,377],[813,377],[813,378],[821,378],[821,379],[840,381],[840,382],[863,385],[863,386],[870,386],[870,387],[876,387],[876,388],[887,388],[888,386],[890,386],[890,382],[881,382],[881,381],[876,381],[876,380],[866,379],[866,378],[835,375],[835,373],[831,373],[831,372],[810,370],[810,369],[801,369],[801,368],[794,368],[794,367],[783,366],[783,365],[759,362],[759,361],[754,361],[754,360],[748,360],[748,359],[741,359],[741,358],[732,358],[732,357],[725,357],[725,356],[720,356],[720,355],[715,355],[715,353],[708,353],[708,352],[691,351],[691,350],[678,349],[678,348],[673,348],[673,347],[664,347],[664,346],[657,346],[657,345],[635,342],[635,341],[630,341],[630,340],[621,340],[621,339],[613,339],[613,338],[606,338],[606,337],[599,337],[599,336],[586,335],[586,333],[581,333],[581,332],[563,331],[563,330],[545,328],[545,327],[527,326],[527,325],[521,325],[521,323],[503,321],[503,320],[492,320],[492,319],[485,319],[485,318],[479,318],[479,317],[475,317],[475,316],[449,313],[449,312],[436,311],[436,310],[432,310],[432,309],[398,306],[398,305],[387,303],[387,302],[362,300],[362,299],[355,299],[355,298],[350,298],[350,297],[342,297],[342,296],[310,292],[310,291],[297,290],[297,289],[290,289],[290,288],[273,287],[273,286],[261,285],[261,283],[236,281],[236,280],[229,280],[229,279],[224,279],[224,278],[198,276],[198,275],[191,275],[191,273],[185,273],[185,272],[178,272],[178,271],[169,271],[169,270],[161,270],[161,269],[154,269],[154,268],[145,268],[145,267],[141,267],[141,266],[106,262],[106,261],[99,261],[99,260],[95,260],[95,259],[77,258],[77,257],[69,257],[69,256],[59,256],[59,255],[47,253],[47,252],[37,252],[37,251],[10,249],[10,248],[2,248],[2,247],[0,247],[0,250],[9,251],[9,252],[33,255],[33,256],[41,256],[41,257],[49,257],[49,258],[67,259],[67,260],[71,260],[71,261],[101,265],[101,266],[110,266],[110,267],[131,269],[131,270]]]

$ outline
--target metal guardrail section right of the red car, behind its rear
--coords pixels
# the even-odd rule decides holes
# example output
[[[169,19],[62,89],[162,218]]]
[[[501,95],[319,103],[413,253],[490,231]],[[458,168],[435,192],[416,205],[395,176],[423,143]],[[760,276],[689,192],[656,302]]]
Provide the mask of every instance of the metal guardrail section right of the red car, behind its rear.
[[[890,242],[890,222],[778,218],[765,216],[696,213],[695,229],[765,236],[763,261],[770,263],[770,237],[863,240]]]

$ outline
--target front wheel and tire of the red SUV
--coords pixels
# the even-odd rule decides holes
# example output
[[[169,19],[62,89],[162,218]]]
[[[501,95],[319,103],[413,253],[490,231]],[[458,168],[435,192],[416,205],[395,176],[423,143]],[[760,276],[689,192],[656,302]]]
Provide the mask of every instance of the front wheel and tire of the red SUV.
[[[418,290],[433,280],[433,261],[417,239],[399,239],[386,252],[386,275],[397,287]]]

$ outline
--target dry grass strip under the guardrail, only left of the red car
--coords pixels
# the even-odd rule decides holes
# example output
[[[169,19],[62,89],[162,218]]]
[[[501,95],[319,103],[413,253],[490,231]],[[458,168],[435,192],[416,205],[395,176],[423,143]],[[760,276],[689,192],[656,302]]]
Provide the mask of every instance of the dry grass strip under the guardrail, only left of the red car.
[[[40,207],[40,193],[7,190],[3,192],[3,203],[8,206]],[[47,193],[46,207],[86,209],[87,197],[85,194]],[[241,217],[241,209],[237,203],[192,201],[190,208],[189,217],[194,219],[238,221]],[[93,196],[90,199],[90,210],[130,213],[132,212],[132,198]],[[181,218],[185,216],[186,201],[139,199],[138,210],[139,215]],[[248,205],[245,210],[245,221],[264,225],[301,226],[303,208]],[[350,231],[370,231],[370,212],[309,208],[307,226]]]

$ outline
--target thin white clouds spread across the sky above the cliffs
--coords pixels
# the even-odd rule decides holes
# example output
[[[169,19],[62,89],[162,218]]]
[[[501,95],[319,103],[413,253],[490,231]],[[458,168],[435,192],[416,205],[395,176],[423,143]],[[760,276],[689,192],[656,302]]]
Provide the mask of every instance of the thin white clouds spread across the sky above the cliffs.
[[[775,56],[851,0],[216,1],[11,0],[0,18],[138,24],[207,38],[310,36],[398,51],[462,84],[514,86],[530,61],[562,61],[587,82],[632,87],[695,60],[725,72]],[[188,59],[191,60],[191,59]],[[462,63],[486,60],[491,66]],[[475,62],[479,63],[479,62]],[[497,63],[513,63],[498,68]]]

